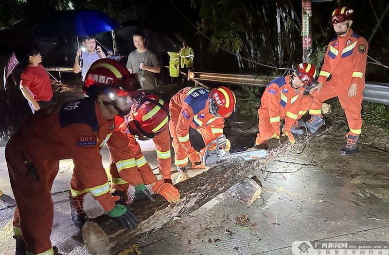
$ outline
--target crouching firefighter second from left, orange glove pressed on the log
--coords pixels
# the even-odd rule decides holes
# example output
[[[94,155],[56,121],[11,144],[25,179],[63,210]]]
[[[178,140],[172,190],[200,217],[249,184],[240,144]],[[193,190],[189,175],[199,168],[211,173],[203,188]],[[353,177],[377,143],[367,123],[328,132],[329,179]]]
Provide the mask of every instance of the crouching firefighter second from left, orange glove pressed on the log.
[[[90,70],[90,69],[89,69]],[[89,71],[93,73],[93,70]],[[88,79],[88,77],[87,77]],[[86,84],[88,80],[86,81]],[[166,132],[169,122],[169,110],[167,103],[155,95],[141,95],[135,98],[135,103],[131,106],[131,112],[125,118],[115,117],[115,128],[107,140],[110,156],[110,173],[112,175],[112,195],[119,196],[117,204],[125,205],[129,202],[128,187],[131,184],[135,187],[134,201],[148,198],[155,199],[150,195],[145,185],[151,185],[152,190],[163,196],[168,202],[178,202],[179,192],[171,183],[170,165],[169,173],[162,175],[165,179],[158,180],[147,163],[141,147],[135,140],[134,135],[144,135],[149,138],[159,137],[159,146],[169,146],[170,136],[167,138]],[[169,163],[169,161],[166,161]],[[162,163],[166,163],[162,162]],[[171,162],[171,161],[170,161]],[[169,163],[170,164],[170,163]],[[166,166],[163,170],[166,171]],[[88,193],[80,178],[73,174],[71,179],[71,191],[69,199],[71,205],[71,219],[76,227],[81,228],[87,220],[87,214],[83,207],[84,196]]]

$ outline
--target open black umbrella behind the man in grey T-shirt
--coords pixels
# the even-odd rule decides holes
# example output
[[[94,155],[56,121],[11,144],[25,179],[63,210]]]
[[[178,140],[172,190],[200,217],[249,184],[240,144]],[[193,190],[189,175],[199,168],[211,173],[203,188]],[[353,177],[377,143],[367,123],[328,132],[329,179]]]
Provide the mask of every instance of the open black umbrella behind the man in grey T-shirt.
[[[138,26],[121,27],[116,34],[132,42],[132,35],[135,31],[142,31],[144,33],[145,45],[155,52],[178,52],[180,49],[179,45],[166,35],[148,29],[142,29]]]

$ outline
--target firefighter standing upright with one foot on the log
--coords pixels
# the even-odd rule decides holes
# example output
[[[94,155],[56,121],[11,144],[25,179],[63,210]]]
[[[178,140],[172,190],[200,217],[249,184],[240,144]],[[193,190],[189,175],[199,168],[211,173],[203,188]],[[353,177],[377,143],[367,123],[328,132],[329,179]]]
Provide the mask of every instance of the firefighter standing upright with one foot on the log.
[[[322,102],[337,96],[350,128],[346,134],[347,143],[340,151],[341,155],[354,155],[358,152],[362,132],[362,93],[365,89],[369,45],[365,38],[351,29],[353,14],[353,9],[345,6],[332,13],[332,24],[337,37],[328,44],[318,85],[310,91],[314,101],[309,110],[311,119],[305,124],[312,133],[316,133],[324,123],[321,115]]]

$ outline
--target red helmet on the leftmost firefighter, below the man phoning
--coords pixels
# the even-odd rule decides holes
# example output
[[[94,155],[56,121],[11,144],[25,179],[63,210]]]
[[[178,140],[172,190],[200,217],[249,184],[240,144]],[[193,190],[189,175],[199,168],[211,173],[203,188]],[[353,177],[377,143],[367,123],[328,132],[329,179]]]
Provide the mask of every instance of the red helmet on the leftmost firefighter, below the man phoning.
[[[134,96],[138,94],[138,88],[141,88],[139,83],[123,65],[114,60],[99,59],[89,67],[83,90],[88,96],[97,96],[107,89],[116,96]]]

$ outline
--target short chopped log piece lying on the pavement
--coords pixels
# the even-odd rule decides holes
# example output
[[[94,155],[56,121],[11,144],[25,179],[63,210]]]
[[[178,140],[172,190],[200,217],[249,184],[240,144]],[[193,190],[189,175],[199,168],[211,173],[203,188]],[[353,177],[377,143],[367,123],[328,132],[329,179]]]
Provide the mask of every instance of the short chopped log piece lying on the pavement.
[[[251,206],[255,199],[261,196],[261,192],[262,187],[253,179],[246,177],[232,185],[226,191],[226,194],[230,195],[235,201]]]

